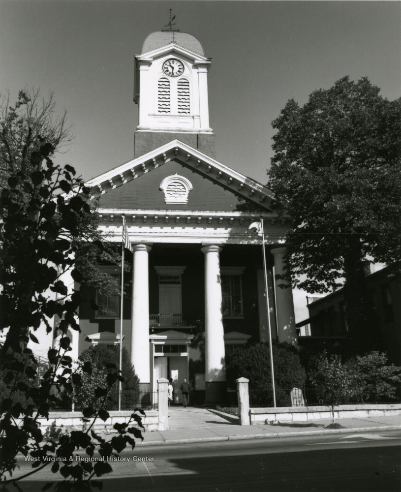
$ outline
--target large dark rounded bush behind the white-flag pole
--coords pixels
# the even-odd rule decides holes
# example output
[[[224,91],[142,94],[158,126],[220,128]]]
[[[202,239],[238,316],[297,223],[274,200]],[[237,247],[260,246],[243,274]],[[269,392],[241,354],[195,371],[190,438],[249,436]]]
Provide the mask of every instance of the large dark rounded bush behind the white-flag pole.
[[[303,388],[306,379],[297,349],[289,343],[273,343],[276,398],[279,405],[289,404],[289,393],[293,387]],[[230,370],[235,378],[249,379],[250,390],[270,391],[272,373],[270,351],[266,343],[256,343],[238,348],[231,357]],[[262,395],[262,394],[260,394]]]

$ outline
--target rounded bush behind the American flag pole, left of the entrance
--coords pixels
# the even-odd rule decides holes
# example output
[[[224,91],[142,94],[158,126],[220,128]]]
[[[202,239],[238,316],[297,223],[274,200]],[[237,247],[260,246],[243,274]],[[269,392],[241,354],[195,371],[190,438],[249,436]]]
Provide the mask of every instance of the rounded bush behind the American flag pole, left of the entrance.
[[[130,363],[128,352],[123,348],[122,358],[122,376],[124,383],[122,387],[122,400],[121,405],[123,409],[133,409],[137,404],[137,397],[139,392],[139,378],[135,374],[135,369]],[[107,387],[107,372],[113,372],[107,369],[110,363],[114,364],[116,368],[119,367],[120,362],[120,349],[119,347],[109,347],[107,345],[96,345],[90,347],[82,352],[79,356],[81,367],[87,361],[91,362],[92,374],[82,375],[83,386],[75,390],[74,400],[78,408],[85,408],[86,406],[96,406],[99,401],[96,398],[95,391],[97,387]],[[116,370],[116,369],[115,369]],[[119,400],[119,384],[116,381],[111,388],[109,398],[104,404],[106,410],[118,409]]]

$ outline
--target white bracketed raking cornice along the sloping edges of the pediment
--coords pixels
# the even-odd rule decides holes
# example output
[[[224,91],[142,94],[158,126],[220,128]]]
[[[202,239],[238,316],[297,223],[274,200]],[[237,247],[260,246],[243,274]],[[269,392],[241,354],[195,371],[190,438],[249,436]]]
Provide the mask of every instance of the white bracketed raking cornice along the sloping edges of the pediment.
[[[222,189],[231,191],[234,195],[246,201],[251,201],[266,211],[271,210],[273,193],[266,186],[179,140],[173,140],[147,154],[111,169],[88,181],[86,185],[91,190],[91,198],[96,198],[133,180],[146,179],[148,173],[177,161],[183,167],[200,174]]]

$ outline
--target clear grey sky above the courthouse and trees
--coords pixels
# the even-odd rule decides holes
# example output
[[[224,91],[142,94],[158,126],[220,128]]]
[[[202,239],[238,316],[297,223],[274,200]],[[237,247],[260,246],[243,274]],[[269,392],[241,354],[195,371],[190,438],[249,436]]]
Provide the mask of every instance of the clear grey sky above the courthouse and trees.
[[[58,162],[91,178],[133,158],[134,56],[169,8],[213,58],[217,159],[263,184],[288,99],[303,104],[345,75],[400,97],[399,1],[0,0],[0,88],[12,100],[26,85],[55,91],[75,135]],[[306,318],[304,293],[296,304]]]

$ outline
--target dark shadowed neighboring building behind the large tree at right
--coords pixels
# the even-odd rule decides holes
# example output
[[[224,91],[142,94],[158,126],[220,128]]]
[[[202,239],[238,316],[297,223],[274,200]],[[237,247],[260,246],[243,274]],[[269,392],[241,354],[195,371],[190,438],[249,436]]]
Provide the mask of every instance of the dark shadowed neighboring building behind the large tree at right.
[[[401,277],[399,266],[390,265],[372,274],[368,271],[366,284],[383,345],[391,362],[400,365]],[[307,300],[309,318],[297,323],[300,346],[324,347],[335,342],[345,343],[349,332],[343,289],[338,289],[324,297],[308,297]]]

